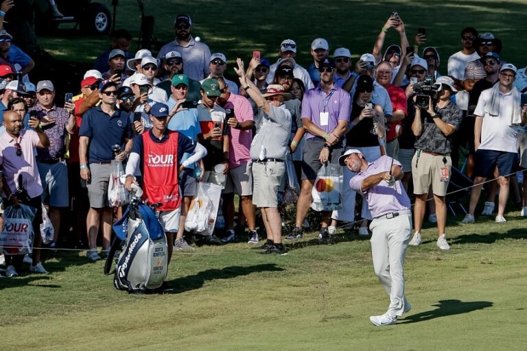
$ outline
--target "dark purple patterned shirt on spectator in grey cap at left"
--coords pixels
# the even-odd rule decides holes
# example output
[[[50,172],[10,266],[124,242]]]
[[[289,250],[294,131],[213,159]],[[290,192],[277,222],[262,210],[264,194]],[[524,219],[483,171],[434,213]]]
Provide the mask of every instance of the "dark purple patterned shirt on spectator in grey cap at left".
[[[49,148],[37,149],[36,159],[51,160],[64,156],[66,153],[66,136],[68,134],[66,130],[69,120],[68,110],[54,105],[50,110],[46,111],[40,104],[36,104],[33,108],[30,108],[31,110],[36,110],[38,119],[49,116],[55,121],[55,123],[42,128],[47,138],[49,138]]]

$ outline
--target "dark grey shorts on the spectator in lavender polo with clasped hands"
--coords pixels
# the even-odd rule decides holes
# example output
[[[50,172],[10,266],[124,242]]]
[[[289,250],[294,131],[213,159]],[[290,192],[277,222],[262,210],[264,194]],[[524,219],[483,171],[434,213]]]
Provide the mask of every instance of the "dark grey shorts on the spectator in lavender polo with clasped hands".
[[[316,173],[318,173],[318,170],[322,167],[322,163],[320,163],[318,158],[320,157],[320,152],[325,143],[326,142],[323,138],[309,138],[305,142],[301,180],[316,180]],[[342,142],[334,145],[329,154],[329,163],[338,164],[338,158],[343,152],[344,146],[342,146]]]

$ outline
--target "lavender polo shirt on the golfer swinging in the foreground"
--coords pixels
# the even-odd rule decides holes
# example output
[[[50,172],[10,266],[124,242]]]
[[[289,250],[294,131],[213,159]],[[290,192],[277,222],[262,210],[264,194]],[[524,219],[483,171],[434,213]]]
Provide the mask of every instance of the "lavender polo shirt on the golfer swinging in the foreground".
[[[379,184],[366,189],[366,191],[360,189],[362,180],[370,175],[389,171],[391,162],[391,157],[381,156],[377,160],[368,163],[366,171],[359,172],[349,181],[351,189],[362,194],[362,196],[366,196],[366,199],[368,199],[368,207],[373,218],[399,210],[409,210],[411,206],[410,198],[404,191],[400,180],[397,180],[394,186],[388,186],[386,181],[381,180]],[[402,168],[397,160],[394,160],[393,164]]]

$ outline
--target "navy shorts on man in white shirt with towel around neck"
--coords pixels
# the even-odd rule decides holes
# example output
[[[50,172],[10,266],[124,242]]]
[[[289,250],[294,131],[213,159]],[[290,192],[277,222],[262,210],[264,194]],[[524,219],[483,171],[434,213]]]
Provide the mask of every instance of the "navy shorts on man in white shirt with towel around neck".
[[[516,170],[518,154],[516,152],[478,149],[474,154],[474,175],[492,178],[495,167],[499,175],[511,175]]]

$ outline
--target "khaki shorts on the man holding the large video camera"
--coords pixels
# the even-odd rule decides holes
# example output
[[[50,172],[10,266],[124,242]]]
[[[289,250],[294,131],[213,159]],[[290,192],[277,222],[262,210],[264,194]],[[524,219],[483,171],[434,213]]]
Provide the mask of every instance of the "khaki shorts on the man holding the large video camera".
[[[432,192],[434,195],[447,195],[447,187],[452,171],[452,159],[450,158],[450,155],[432,156],[421,152],[421,155],[418,158],[417,154],[419,154],[419,152],[416,152],[414,158],[412,158],[414,194],[428,194],[428,190],[430,189],[430,186],[432,186]],[[443,158],[447,161],[446,164],[443,162]],[[449,178],[444,182],[441,181],[441,167],[448,168]]]

